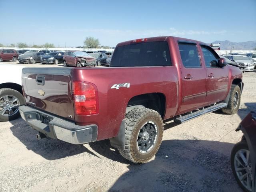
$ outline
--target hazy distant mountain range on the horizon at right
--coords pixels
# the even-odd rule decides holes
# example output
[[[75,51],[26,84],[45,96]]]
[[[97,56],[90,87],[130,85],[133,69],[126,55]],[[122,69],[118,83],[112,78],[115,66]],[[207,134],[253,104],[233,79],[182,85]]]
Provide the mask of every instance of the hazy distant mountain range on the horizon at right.
[[[256,41],[247,41],[247,42],[231,42],[228,40],[225,41],[214,41],[209,44],[218,44],[220,43],[220,50],[254,50],[256,48]]]

